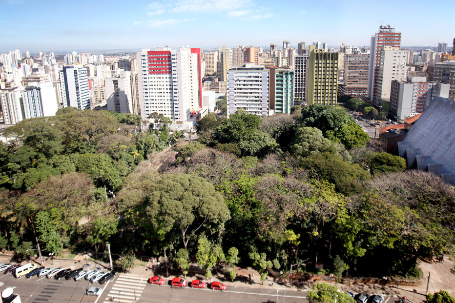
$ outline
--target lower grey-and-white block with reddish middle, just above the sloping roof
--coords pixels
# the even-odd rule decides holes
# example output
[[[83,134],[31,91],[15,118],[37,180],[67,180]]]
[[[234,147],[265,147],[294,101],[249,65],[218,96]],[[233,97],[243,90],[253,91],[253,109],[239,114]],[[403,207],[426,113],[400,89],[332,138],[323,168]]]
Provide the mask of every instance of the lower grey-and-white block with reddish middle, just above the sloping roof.
[[[409,82],[392,81],[389,113],[398,120],[417,115],[436,97],[447,98],[449,84],[427,82],[425,78],[410,77]]]

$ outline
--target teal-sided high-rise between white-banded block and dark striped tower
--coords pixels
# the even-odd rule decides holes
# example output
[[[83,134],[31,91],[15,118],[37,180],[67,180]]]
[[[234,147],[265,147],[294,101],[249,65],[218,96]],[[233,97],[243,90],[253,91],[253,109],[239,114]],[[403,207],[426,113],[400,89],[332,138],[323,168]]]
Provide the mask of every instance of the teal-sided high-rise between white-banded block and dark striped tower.
[[[276,66],[269,69],[269,109],[274,114],[290,114],[294,104],[294,71]]]

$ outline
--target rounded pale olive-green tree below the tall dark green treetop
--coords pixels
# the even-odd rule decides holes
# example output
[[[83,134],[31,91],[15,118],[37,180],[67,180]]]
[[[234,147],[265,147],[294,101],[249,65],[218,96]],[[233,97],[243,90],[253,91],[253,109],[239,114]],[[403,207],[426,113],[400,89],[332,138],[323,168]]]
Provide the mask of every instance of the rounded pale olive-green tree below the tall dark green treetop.
[[[290,145],[292,154],[308,157],[311,154],[328,151],[331,141],[324,138],[322,131],[315,127],[299,127]]]

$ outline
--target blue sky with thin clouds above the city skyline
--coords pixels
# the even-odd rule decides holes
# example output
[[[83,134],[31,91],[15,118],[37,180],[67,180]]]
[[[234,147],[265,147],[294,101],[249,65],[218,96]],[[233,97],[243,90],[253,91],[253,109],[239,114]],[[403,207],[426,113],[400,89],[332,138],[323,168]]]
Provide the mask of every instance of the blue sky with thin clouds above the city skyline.
[[[402,33],[401,45],[451,46],[454,15],[454,0],[0,0],[0,52],[282,46],[283,40],[361,47],[381,22]]]

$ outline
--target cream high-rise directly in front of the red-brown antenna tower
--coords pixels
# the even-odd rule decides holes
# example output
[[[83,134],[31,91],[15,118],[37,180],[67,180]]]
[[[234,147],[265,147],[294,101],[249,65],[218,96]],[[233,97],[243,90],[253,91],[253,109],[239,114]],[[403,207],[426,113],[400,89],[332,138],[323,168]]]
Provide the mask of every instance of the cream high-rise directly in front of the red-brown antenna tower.
[[[382,45],[379,55],[379,74],[377,81],[376,100],[390,99],[390,89],[393,80],[406,81],[406,50],[399,47]]]

